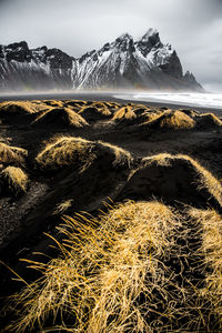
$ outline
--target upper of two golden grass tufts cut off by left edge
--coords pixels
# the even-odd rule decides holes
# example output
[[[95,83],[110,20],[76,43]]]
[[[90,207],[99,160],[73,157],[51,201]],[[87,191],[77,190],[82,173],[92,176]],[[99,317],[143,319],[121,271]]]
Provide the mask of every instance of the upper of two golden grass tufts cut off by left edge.
[[[11,147],[3,142],[0,142],[0,163],[21,164],[24,162],[24,158],[28,155],[28,151],[22,148]]]

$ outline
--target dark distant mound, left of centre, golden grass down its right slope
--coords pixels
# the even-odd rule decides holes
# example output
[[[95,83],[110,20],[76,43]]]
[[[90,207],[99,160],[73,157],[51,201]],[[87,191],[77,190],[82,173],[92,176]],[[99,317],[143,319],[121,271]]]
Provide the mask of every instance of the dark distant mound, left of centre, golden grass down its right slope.
[[[69,108],[52,108],[40,114],[33,122],[33,127],[72,127],[82,128],[88,122],[78,113]]]

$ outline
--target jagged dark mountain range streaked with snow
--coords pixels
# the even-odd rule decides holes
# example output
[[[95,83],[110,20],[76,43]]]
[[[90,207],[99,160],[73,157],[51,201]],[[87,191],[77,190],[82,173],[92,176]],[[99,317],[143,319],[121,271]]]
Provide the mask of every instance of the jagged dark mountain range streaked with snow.
[[[124,33],[79,59],[47,47],[30,50],[24,41],[0,46],[1,90],[101,88],[202,90],[154,29],[139,41]]]

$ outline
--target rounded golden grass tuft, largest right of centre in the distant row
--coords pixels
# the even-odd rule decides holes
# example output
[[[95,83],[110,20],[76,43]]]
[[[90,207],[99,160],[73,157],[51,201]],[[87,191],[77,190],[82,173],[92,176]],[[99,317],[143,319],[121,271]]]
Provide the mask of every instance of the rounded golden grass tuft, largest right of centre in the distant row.
[[[155,117],[153,115],[149,122],[144,124],[155,124],[161,129],[185,130],[193,129],[195,121],[184,112],[170,110],[157,114]]]

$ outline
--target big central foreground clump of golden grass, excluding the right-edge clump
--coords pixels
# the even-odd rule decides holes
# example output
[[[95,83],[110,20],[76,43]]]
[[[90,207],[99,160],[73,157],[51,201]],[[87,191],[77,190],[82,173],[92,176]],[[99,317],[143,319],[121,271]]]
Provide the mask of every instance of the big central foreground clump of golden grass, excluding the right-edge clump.
[[[46,332],[49,315],[61,315],[67,332],[153,332],[161,323],[164,330],[164,317],[173,321],[176,302],[169,302],[157,323],[152,315],[170,297],[161,260],[170,255],[180,226],[179,215],[159,202],[119,204],[99,220],[67,219],[60,228],[67,236],[59,244],[60,258],[30,262],[42,278],[14,295],[20,317],[7,330]],[[73,319],[70,326],[67,313]]]

